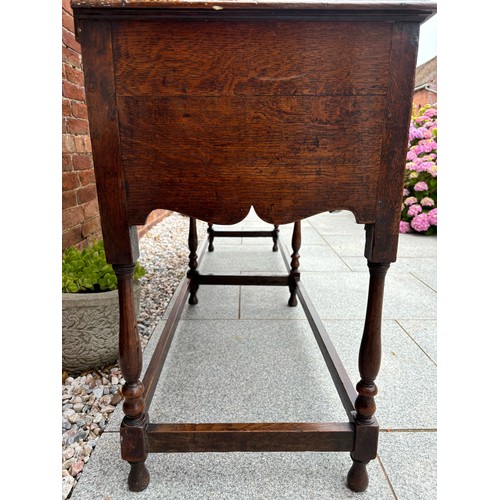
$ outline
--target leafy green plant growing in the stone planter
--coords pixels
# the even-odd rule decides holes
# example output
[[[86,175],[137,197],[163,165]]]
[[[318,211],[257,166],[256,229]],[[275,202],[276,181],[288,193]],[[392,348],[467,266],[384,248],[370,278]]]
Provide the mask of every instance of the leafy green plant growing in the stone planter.
[[[146,274],[139,262],[135,265],[134,279]],[[104,242],[96,241],[92,245],[78,250],[67,248],[62,259],[63,293],[105,292],[118,286],[115,271],[106,261]]]

